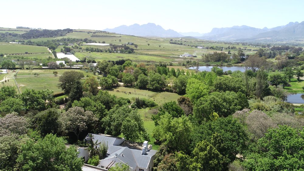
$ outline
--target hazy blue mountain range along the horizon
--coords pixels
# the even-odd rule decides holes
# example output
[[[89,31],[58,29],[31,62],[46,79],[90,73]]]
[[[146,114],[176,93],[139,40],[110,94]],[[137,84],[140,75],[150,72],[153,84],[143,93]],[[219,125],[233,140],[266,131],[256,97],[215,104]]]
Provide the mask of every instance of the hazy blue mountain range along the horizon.
[[[199,32],[176,32],[172,29],[165,30],[154,23],[133,24],[131,26],[119,26],[104,31],[116,32],[134,36],[155,36],[155,37],[184,37],[192,36],[197,39],[219,40],[219,41],[279,41],[304,38],[304,21],[289,22],[284,26],[277,26],[268,29],[254,28],[250,26],[232,26],[225,28],[213,28],[209,33]]]

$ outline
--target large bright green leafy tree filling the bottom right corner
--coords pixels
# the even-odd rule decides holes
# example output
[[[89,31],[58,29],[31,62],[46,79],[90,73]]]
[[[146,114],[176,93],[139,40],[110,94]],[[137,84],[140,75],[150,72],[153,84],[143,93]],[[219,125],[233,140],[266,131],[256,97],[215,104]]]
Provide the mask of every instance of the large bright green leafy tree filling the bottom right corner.
[[[242,163],[247,170],[301,170],[303,130],[287,125],[268,129],[258,140],[257,152],[250,153]]]

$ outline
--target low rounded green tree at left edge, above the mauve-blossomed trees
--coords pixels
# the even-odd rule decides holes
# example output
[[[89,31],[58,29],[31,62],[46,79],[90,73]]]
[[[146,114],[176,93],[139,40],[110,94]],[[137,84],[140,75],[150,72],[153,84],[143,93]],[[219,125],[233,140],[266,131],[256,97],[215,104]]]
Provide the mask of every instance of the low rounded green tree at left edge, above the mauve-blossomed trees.
[[[25,111],[24,103],[22,100],[17,98],[7,98],[6,100],[0,103],[1,112],[17,112]]]

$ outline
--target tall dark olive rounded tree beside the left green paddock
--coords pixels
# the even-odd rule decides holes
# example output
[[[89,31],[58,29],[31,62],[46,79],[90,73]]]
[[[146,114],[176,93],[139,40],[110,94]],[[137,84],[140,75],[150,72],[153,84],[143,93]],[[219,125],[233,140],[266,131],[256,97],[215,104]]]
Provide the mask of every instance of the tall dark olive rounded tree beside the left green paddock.
[[[72,86],[75,84],[77,80],[80,80],[84,75],[81,72],[77,71],[65,71],[61,77],[59,77],[60,87],[65,94],[69,94]]]

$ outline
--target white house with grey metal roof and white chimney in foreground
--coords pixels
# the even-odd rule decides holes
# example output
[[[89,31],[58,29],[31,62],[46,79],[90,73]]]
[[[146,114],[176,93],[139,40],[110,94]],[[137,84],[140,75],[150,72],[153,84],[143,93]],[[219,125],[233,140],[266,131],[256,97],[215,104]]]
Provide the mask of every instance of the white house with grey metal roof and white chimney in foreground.
[[[143,147],[140,149],[131,149],[127,146],[123,146],[124,138],[112,137],[110,135],[98,135],[92,134],[94,141],[105,142],[108,144],[107,156],[99,160],[98,167],[109,169],[115,166],[116,163],[127,164],[130,171],[151,171],[154,165],[156,150],[152,150],[152,145],[148,145],[148,142],[143,142]],[[84,150],[79,154],[81,158],[83,156],[89,156],[89,151]]]

